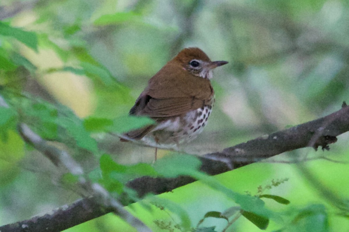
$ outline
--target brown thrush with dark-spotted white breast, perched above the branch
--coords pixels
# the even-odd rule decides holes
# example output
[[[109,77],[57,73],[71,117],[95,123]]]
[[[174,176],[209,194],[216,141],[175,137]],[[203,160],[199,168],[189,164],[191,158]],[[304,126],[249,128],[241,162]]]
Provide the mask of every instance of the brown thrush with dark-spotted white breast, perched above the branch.
[[[125,136],[163,148],[195,139],[207,125],[215,101],[212,70],[227,63],[211,61],[199,48],[183,49],[149,80],[129,111],[149,116],[156,124]]]

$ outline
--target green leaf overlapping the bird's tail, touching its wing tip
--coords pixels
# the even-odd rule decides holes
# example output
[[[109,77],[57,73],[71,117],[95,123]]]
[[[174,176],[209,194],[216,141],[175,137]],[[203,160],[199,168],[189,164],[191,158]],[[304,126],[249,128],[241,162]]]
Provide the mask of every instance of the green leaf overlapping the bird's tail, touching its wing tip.
[[[124,133],[151,124],[154,124],[154,120],[151,118],[124,115],[114,119],[114,125],[111,127],[111,131]]]

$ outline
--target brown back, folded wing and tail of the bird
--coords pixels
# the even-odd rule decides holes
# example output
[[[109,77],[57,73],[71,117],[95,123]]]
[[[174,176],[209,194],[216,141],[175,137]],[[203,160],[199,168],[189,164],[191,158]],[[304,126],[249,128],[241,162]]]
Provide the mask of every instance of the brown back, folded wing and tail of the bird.
[[[172,64],[169,62],[166,65]],[[129,114],[149,116],[161,122],[208,105],[212,96],[213,88],[209,80],[188,76],[187,71],[179,67],[164,67],[149,80],[148,87],[140,94]],[[146,126],[126,135],[141,139],[154,127]]]

